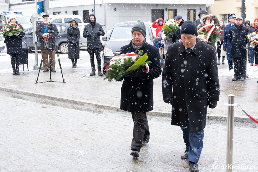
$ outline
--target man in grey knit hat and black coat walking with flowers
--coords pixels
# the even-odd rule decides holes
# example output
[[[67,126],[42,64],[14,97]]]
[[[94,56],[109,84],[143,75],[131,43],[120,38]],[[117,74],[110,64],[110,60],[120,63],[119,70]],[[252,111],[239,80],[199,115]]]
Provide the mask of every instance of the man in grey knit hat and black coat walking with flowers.
[[[139,157],[141,147],[149,142],[149,125],[146,112],[153,109],[153,79],[161,75],[160,55],[158,48],[146,42],[146,25],[138,22],[132,28],[132,41],[121,47],[120,54],[143,50],[147,53],[149,72],[135,70],[124,77],[121,88],[120,109],[131,112],[134,122],[131,156]]]

